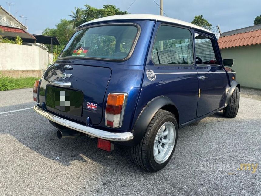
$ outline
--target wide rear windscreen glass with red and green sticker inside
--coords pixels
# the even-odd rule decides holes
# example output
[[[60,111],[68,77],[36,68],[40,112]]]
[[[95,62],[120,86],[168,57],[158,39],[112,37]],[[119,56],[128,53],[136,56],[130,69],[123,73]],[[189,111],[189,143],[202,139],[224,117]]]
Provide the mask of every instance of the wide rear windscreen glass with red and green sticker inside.
[[[97,26],[77,31],[60,57],[125,59],[133,48],[138,28],[131,25]]]

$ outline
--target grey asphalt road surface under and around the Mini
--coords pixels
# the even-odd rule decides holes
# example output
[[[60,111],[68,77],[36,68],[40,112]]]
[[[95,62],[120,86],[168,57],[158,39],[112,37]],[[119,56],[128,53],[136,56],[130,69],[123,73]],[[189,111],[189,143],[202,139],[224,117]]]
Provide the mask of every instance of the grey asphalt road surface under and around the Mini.
[[[0,92],[0,195],[261,195],[260,100],[242,93],[236,118],[180,129],[168,165],[149,173],[123,146],[58,139],[31,109],[32,89]]]

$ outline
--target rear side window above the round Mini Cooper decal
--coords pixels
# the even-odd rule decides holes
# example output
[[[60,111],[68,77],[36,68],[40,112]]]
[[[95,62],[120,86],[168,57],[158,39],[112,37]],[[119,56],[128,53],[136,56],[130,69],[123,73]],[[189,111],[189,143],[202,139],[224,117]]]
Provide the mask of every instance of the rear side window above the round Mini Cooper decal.
[[[193,64],[191,32],[174,26],[160,26],[153,46],[152,60],[155,64]]]

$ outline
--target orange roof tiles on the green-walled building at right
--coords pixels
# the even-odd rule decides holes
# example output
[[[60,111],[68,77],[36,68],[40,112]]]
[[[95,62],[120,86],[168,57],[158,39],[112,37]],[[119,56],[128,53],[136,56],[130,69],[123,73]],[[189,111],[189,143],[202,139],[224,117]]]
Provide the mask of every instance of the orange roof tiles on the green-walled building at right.
[[[223,36],[218,43],[220,49],[261,44],[261,29]]]

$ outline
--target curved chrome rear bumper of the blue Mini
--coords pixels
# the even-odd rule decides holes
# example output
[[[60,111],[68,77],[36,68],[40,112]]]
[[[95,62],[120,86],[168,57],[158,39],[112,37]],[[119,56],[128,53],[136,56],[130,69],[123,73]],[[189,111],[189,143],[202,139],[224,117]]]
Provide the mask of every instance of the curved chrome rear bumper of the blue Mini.
[[[46,112],[46,111],[42,110],[42,108],[39,107],[39,104],[36,104],[33,107],[33,109],[38,114],[44,116],[45,118],[47,118],[53,122],[56,122],[60,125],[68,127],[69,129],[73,129],[73,130],[88,134],[93,137],[98,137],[101,139],[117,141],[117,142],[125,142],[125,141],[129,141],[129,140],[133,139],[133,134],[131,132],[115,133],[115,132],[108,132],[108,131],[103,131],[100,129],[94,129],[92,127],[84,126],[84,125],[78,124],[76,122],[72,122],[72,121],[63,119],[63,118],[53,115],[49,112]]]

